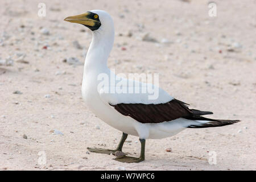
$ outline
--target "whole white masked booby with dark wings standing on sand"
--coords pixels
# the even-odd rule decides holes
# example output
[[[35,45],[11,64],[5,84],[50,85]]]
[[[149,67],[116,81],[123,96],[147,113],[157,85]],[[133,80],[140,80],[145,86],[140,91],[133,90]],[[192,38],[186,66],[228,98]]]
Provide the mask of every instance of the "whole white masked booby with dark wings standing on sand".
[[[82,98],[97,117],[123,132],[121,141],[115,150],[88,148],[90,152],[111,154],[122,151],[127,135],[135,135],[141,142],[139,158],[124,155],[115,160],[126,163],[142,162],[146,139],[171,137],[187,128],[218,127],[232,125],[239,121],[205,118],[202,115],[213,113],[189,109],[188,104],[176,100],[158,86],[114,75],[107,66],[114,42],[114,23],[112,17],[105,11],[92,10],[84,14],[68,16],[64,20],[88,27],[93,35],[84,64]],[[100,75],[108,77],[109,85],[99,86],[101,84]],[[122,85],[122,90],[151,86],[154,90],[158,90],[158,97],[150,98],[150,93],[147,92],[109,92],[109,90],[117,90],[117,84],[110,81],[110,77],[113,75],[115,80],[131,83],[128,86]]]

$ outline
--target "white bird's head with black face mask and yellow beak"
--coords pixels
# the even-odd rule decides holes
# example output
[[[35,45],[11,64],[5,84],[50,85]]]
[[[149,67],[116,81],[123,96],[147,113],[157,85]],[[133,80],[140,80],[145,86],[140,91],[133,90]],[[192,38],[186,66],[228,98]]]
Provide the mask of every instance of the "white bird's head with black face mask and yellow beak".
[[[64,19],[67,22],[79,23],[88,27],[92,31],[104,29],[105,31],[113,28],[113,20],[111,16],[102,10],[91,10],[84,14],[76,16],[68,16]]]

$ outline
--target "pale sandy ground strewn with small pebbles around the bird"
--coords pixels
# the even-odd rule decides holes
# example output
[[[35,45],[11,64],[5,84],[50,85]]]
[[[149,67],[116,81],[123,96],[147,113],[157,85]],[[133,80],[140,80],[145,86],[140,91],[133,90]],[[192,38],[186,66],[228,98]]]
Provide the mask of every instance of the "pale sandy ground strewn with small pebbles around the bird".
[[[1,1],[0,60],[14,63],[0,65],[0,169],[256,169],[256,1],[216,1],[216,17],[209,17],[203,0],[43,2],[45,17],[38,16],[39,1]],[[146,161],[138,164],[86,154],[86,147],[117,146],[122,134],[86,108],[83,66],[63,62],[76,57],[84,63],[92,39],[88,29],[63,19],[92,9],[114,19],[110,68],[159,73],[159,85],[173,97],[213,111],[212,118],[242,122],[148,139]],[[155,40],[143,41],[147,33]],[[138,138],[128,140],[123,150],[139,155]],[[40,151],[46,154],[43,166]],[[216,152],[216,165],[208,163],[209,151]]]

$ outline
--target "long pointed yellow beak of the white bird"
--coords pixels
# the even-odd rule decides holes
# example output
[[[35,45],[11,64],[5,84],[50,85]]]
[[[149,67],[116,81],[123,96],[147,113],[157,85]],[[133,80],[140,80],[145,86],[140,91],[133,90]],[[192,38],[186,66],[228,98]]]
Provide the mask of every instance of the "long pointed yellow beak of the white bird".
[[[76,15],[76,16],[68,16],[64,19],[64,21],[71,22],[71,23],[80,23],[84,24],[85,26],[93,27],[98,22],[97,20],[90,18],[91,13],[87,12],[84,14]]]

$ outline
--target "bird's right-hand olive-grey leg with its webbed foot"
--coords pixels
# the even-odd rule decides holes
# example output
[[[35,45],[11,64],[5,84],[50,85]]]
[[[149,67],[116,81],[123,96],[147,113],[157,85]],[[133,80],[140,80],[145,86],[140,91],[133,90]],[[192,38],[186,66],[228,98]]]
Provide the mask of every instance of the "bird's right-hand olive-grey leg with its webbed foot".
[[[134,158],[134,157],[124,155],[124,156],[118,156],[114,160],[117,160],[118,162],[122,162],[122,163],[139,163],[139,162],[142,162],[143,160],[145,160],[146,140],[139,139],[139,141],[141,142],[141,155],[139,156],[139,158]]]

